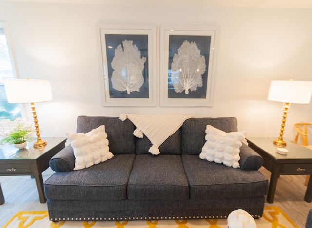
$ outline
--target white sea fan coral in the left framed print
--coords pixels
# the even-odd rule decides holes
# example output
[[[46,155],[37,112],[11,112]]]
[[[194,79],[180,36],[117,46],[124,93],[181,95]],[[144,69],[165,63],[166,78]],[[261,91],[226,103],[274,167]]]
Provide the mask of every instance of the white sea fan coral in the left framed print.
[[[112,74],[112,86],[117,91],[127,91],[130,94],[133,91],[140,91],[144,83],[143,69],[146,61],[141,58],[141,52],[132,40],[122,41],[115,49],[115,55],[111,63],[114,69]]]

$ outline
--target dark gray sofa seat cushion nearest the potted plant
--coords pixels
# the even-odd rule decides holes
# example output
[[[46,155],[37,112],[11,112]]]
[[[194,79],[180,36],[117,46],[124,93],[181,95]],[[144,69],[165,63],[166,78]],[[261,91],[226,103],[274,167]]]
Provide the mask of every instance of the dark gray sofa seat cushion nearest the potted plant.
[[[135,154],[117,154],[83,170],[57,172],[44,183],[45,195],[56,200],[122,200]]]

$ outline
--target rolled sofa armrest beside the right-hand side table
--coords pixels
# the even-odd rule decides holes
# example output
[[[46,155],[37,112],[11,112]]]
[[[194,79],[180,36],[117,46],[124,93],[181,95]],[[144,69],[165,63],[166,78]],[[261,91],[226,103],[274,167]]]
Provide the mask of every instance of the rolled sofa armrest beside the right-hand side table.
[[[240,147],[239,156],[238,162],[242,170],[258,170],[263,164],[263,158],[244,143]]]

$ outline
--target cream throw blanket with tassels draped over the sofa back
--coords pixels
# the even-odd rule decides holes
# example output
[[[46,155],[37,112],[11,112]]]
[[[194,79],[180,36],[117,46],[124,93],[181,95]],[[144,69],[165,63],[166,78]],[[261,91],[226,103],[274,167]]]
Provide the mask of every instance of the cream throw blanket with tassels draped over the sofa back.
[[[185,120],[192,115],[137,115],[121,114],[119,119],[127,118],[137,127],[133,134],[143,138],[143,133],[152,142],[153,146],[148,150],[150,153],[159,154],[158,147],[173,133],[175,133]]]

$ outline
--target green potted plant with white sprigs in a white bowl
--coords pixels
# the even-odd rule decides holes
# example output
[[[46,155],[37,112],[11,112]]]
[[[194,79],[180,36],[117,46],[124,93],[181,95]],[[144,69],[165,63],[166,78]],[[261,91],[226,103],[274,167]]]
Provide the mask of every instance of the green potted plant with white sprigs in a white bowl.
[[[0,135],[3,138],[0,144],[13,144],[16,148],[23,149],[27,142],[34,139],[35,128],[33,123],[22,118],[16,118],[14,121],[0,121]]]

